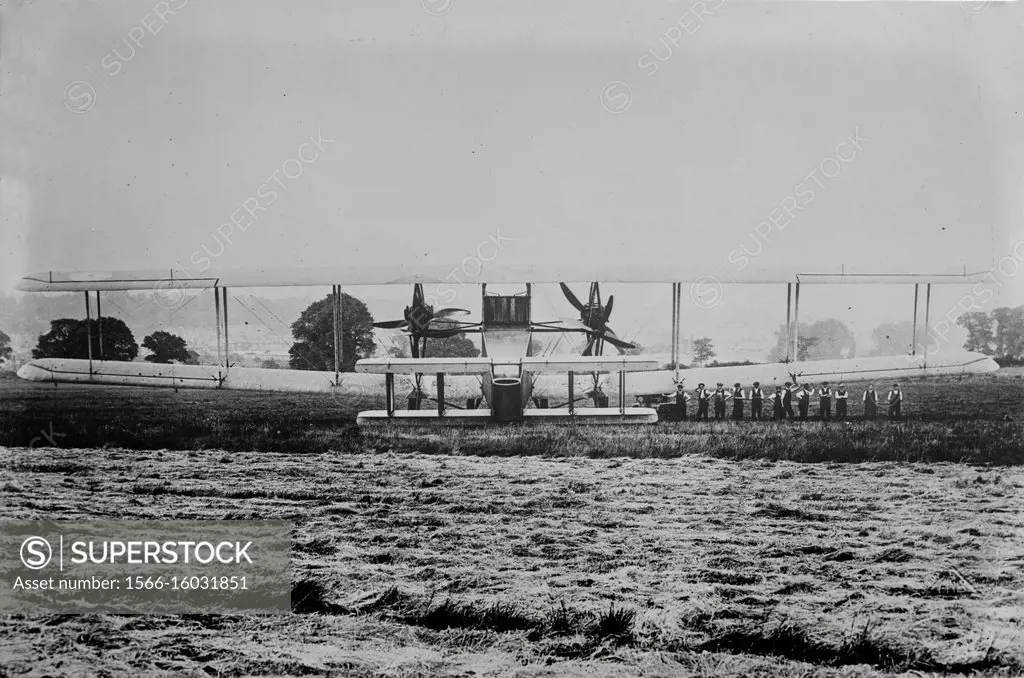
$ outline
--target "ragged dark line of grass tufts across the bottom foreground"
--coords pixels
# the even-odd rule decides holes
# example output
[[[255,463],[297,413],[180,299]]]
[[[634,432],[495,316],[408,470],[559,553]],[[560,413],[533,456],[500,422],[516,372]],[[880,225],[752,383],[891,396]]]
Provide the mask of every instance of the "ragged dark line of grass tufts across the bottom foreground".
[[[382,619],[430,631],[452,629],[499,634],[523,633],[548,653],[560,659],[593,658],[601,648],[632,646],[654,652],[727,652],[779,658],[805,664],[845,667],[869,666],[885,672],[941,672],[973,674],[991,670],[1024,670],[1019,660],[989,646],[971,659],[940,659],[932,649],[898,639],[870,619],[842,634],[828,635],[807,622],[773,618],[768,611],[756,619],[723,626],[713,616],[689,616],[668,624],[637,628],[637,612],[612,602],[604,609],[582,609],[561,601],[537,613],[515,602],[472,601],[445,598],[420,600],[392,586],[357,609],[329,601],[322,582],[302,580],[293,589],[297,613],[379,615]],[[314,600],[309,604],[308,600]],[[298,602],[297,602],[298,601]],[[571,637],[570,642],[565,638]]]

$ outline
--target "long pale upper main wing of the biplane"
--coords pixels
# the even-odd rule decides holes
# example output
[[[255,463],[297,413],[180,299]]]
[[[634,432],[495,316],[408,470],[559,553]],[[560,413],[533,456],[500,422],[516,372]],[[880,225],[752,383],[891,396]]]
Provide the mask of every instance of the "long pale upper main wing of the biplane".
[[[379,266],[314,266],[295,268],[223,268],[190,272],[180,266],[148,270],[48,270],[24,277],[23,292],[80,292],[92,290],[166,291],[214,287],[302,287],[329,285],[412,285],[415,283],[478,285],[519,283],[809,283],[809,284],[973,284],[987,271],[945,270],[923,273],[810,268],[746,268],[700,270],[687,265],[625,264],[590,268],[579,265],[500,266],[484,264],[476,276],[460,266],[388,264]]]

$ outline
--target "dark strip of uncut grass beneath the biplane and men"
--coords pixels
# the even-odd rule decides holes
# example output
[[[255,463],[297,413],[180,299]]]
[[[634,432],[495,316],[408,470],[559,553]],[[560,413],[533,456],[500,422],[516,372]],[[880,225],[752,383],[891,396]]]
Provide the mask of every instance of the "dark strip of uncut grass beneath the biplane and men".
[[[1024,370],[904,382],[906,421],[662,422],[635,429],[359,431],[380,402],[325,394],[59,386],[0,379],[0,446],[281,453],[393,450],[472,455],[1024,464]],[[855,388],[854,388],[855,390]]]

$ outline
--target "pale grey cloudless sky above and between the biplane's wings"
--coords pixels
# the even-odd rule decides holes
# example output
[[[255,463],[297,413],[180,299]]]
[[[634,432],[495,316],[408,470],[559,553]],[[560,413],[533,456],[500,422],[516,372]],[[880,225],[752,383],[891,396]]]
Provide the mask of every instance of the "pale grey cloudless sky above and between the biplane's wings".
[[[458,266],[500,234],[502,264],[724,282],[1004,260],[982,307],[1024,303],[1018,4],[3,7],[3,291],[45,269]],[[784,320],[784,290],[727,290],[688,316]],[[912,290],[837,290],[805,312],[909,320]],[[668,288],[615,293],[621,334],[668,312]]]

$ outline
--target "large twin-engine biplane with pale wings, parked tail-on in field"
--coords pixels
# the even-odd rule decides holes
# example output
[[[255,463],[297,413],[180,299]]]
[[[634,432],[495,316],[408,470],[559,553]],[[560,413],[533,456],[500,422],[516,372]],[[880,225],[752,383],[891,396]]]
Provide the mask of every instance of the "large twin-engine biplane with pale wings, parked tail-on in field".
[[[697,383],[749,384],[765,387],[786,381],[855,381],[902,379],[915,376],[985,373],[998,369],[989,356],[957,351],[918,353],[918,306],[925,286],[925,326],[928,327],[932,285],[974,285],[984,271],[940,273],[857,273],[839,271],[800,272],[774,270],[730,276],[730,285],[784,285],[786,289],[786,358],[782,363],[680,370],[682,287],[707,282],[709,277],[682,276],[678,270],[648,265],[616,266],[614,269],[580,270],[548,267],[508,267],[488,264],[473,279],[480,287],[480,322],[458,320],[469,314],[464,308],[438,308],[427,303],[425,285],[451,285],[447,268],[421,269],[376,266],[345,268],[225,269],[201,277],[180,270],[47,271],[26,276],[17,289],[26,292],[83,292],[86,317],[92,317],[95,293],[96,316],[101,313],[103,291],[151,291],[184,294],[189,290],[213,290],[218,365],[160,365],[104,361],[102,337],[93,354],[90,338],[87,359],[34,359],[18,370],[31,381],[88,383],[173,388],[214,388],[293,392],[334,392],[377,395],[385,399],[383,410],[361,412],[360,425],[368,424],[487,424],[513,422],[581,422],[594,424],[647,424],[657,421],[655,405],[671,397],[678,387]],[[586,302],[570,284],[589,284]],[[657,361],[623,354],[633,344],[608,326],[613,297],[602,300],[601,283],[671,284],[672,369],[660,369]],[[532,290],[541,284],[557,284],[566,301],[580,313],[579,320],[536,321]],[[854,357],[830,361],[796,361],[802,285],[909,284],[914,286],[914,349],[909,354]],[[333,372],[271,370],[232,366],[228,340],[228,289],[251,287],[331,286],[334,317]],[[402,317],[377,323],[380,329],[399,330],[410,340],[412,357],[365,358],[355,372],[341,372],[341,288],[369,285],[408,285],[412,303]],[[488,292],[488,285],[522,286],[515,294]],[[91,327],[91,325],[90,325]],[[100,326],[101,328],[101,326]],[[480,335],[481,355],[475,358],[430,357],[427,346],[463,332]],[[586,336],[580,355],[530,354],[530,339],[537,333],[565,332]],[[606,346],[617,354],[604,354]],[[793,359],[791,359],[793,358]],[[408,394],[399,398],[398,394]],[[584,407],[579,404],[585,402]],[[429,404],[429,407],[426,407]],[[401,407],[404,406],[404,407]]]

